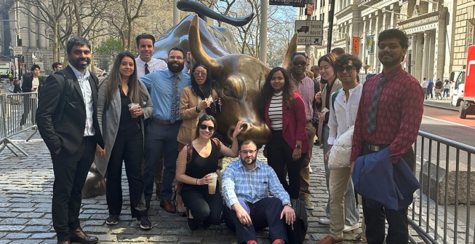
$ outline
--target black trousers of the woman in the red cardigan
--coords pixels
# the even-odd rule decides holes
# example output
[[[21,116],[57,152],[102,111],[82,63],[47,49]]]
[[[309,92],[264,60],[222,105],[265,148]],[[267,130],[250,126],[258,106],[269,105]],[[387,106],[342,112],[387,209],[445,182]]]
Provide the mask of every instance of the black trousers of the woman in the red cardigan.
[[[282,137],[282,131],[272,131],[272,139],[266,145],[268,164],[271,166],[280,183],[291,196],[291,199],[298,199],[300,195],[300,168],[306,153],[300,159],[293,161],[291,148]],[[287,172],[287,173],[286,173]],[[288,175],[288,182],[286,176]]]

